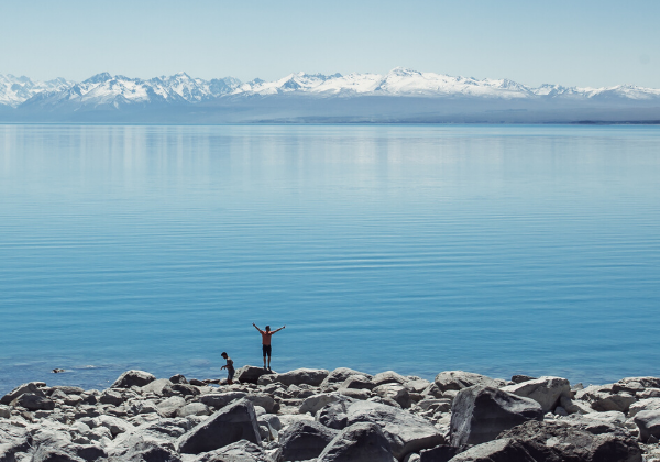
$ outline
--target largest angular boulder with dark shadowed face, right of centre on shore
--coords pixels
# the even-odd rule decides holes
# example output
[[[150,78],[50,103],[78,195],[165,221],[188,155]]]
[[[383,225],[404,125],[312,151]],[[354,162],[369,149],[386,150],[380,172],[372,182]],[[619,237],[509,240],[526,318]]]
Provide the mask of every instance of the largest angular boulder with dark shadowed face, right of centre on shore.
[[[451,407],[451,444],[480,444],[527,420],[542,420],[541,405],[490,386],[464,388]]]

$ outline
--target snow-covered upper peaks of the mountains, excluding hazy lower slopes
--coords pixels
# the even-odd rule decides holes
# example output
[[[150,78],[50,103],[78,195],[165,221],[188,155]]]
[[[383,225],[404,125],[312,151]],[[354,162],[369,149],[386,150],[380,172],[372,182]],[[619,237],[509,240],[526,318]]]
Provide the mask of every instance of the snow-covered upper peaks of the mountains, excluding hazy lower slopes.
[[[660,89],[619,85],[604,88],[563,87],[543,84],[530,87],[510,79],[476,79],[396,67],[387,74],[293,73],[277,80],[258,78],[248,82],[233,77],[205,80],[185,72],[151,79],[110,73],[97,74],[81,82],[64,78],[33,81],[25,76],[0,75],[0,106],[18,108],[82,107],[122,108],[131,105],[196,105],[250,96],[300,96],[352,98],[361,96],[415,98],[479,98],[497,100],[565,101],[660,101]]]

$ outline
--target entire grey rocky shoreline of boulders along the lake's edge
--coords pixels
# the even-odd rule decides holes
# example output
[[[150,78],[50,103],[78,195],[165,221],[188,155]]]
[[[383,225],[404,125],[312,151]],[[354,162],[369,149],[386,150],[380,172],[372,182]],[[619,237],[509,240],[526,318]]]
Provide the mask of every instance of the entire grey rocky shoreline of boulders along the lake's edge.
[[[244,366],[234,380],[20,385],[0,399],[0,462],[660,462],[660,377]]]

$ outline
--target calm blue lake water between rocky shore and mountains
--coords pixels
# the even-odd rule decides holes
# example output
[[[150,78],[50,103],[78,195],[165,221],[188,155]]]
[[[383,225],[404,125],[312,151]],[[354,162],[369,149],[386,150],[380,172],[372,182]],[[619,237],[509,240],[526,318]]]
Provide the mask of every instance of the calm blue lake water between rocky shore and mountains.
[[[0,125],[0,392],[660,375],[657,127]],[[55,367],[67,370],[51,374]]]

